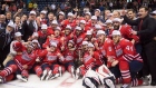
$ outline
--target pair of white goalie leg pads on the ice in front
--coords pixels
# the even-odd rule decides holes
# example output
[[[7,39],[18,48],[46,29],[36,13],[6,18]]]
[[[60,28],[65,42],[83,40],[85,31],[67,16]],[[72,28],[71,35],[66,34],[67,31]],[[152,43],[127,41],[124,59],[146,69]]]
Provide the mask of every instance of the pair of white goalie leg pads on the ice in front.
[[[86,88],[98,88],[98,86],[104,86],[105,88],[116,88],[115,76],[105,65],[97,68],[97,70],[91,70],[89,68],[84,76],[82,86]]]

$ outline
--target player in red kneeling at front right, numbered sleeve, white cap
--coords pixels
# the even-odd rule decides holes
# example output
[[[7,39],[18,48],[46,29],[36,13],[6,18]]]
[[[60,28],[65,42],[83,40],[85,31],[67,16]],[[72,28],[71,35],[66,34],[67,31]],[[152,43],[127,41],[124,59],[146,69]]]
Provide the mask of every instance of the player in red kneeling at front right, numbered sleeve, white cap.
[[[118,30],[113,31],[113,40],[115,43],[116,59],[111,60],[110,70],[115,74],[116,78],[119,75],[123,78],[121,88],[129,88],[130,86],[148,85],[147,80],[136,78],[136,74],[143,68],[143,59],[136,52],[133,42],[121,38]]]

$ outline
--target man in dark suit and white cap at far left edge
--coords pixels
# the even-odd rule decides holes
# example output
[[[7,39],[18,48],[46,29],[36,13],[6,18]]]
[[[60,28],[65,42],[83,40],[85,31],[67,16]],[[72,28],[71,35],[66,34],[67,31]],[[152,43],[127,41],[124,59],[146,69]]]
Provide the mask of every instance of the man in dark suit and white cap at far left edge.
[[[10,51],[10,42],[12,40],[11,32],[13,31],[14,25],[10,21],[6,29],[0,30],[0,65],[2,66],[3,60]]]

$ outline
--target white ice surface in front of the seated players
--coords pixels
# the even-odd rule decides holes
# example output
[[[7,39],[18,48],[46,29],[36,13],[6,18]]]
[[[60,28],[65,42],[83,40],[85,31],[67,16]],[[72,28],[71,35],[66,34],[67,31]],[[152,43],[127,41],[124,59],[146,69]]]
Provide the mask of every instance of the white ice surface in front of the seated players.
[[[85,88],[81,86],[81,79],[75,80],[68,72],[65,72],[62,77],[47,81],[41,81],[36,75],[30,75],[28,82],[13,80],[3,85],[0,84],[0,88]],[[120,86],[118,85],[117,88],[120,88]],[[156,88],[156,86],[139,86],[134,88]]]

